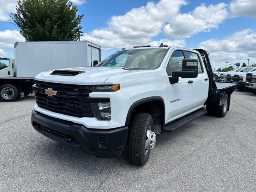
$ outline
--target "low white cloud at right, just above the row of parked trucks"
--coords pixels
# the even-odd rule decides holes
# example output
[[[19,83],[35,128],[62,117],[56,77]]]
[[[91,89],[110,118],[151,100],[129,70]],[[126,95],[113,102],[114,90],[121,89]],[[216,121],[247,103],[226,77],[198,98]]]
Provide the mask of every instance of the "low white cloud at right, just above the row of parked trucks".
[[[256,32],[251,29],[236,32],[222,40],[210,39],[198,46],[210,52],[214,66],[226,66],[225,62],[256,63]]]

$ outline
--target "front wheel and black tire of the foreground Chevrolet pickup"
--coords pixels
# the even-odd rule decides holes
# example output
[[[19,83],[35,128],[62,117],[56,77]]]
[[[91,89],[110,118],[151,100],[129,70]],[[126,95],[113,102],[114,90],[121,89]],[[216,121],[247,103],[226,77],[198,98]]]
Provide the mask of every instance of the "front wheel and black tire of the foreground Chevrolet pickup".
[[[150,151],[155,146],[156,134],[152,116],[148,113],[138,113],[130,130],[128,156],[130,162],[143,166],[148,162]]]

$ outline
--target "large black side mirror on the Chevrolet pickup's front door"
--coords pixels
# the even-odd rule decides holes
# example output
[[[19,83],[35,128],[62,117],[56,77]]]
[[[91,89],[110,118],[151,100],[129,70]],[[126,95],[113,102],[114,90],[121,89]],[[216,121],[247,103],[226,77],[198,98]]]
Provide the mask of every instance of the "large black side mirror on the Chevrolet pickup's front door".
[[[183,59],[182,70],[173,71],[172,77],[196,78],[198,76],[198,59]]]

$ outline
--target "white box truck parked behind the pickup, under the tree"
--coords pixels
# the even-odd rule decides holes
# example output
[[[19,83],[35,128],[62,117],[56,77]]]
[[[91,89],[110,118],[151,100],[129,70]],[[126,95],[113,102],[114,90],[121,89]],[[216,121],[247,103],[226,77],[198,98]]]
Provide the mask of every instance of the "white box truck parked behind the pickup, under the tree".
[[[16,42],[14,58],[0,58],[0,100],[15,101],[32,92],[34,77],[60,68],[100,62],[101,47],[88,41]]]

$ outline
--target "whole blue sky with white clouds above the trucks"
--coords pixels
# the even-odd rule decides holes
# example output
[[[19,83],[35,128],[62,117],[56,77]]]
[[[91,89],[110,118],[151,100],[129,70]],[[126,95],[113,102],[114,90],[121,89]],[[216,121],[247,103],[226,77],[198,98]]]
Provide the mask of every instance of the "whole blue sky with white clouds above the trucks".
[[[1,0],[0,56],[13,56],[23,40],[4,21],[16,0]],[[205,48],[214,67],[224,62],[256,62],[256,0],[72,0],[79,14],[82,40],[102,46],[106,57],[122,47],[141,44]]]

